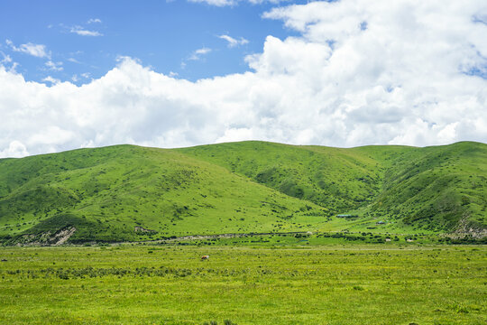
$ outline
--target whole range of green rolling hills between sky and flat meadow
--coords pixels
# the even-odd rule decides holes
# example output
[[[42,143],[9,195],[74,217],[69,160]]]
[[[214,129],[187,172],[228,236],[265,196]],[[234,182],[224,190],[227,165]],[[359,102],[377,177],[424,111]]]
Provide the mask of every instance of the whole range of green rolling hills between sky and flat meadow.
[[[487,228],[487,145],[115,145],[0,160],[7,243]],[[337,214],[351,218],[337,218]]]

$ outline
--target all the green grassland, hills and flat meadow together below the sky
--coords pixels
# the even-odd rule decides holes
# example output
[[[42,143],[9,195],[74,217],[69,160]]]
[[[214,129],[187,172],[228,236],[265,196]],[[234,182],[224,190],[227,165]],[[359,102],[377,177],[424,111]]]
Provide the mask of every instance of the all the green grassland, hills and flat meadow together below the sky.
[[[486,180],[476,143],[0,160],[0,323],[484,324]]]

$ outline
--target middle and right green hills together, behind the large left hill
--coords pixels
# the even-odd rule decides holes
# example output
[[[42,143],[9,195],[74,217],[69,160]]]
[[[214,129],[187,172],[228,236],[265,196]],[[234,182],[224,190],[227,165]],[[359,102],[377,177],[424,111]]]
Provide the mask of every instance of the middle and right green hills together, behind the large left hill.
[[[350,230],[482,231],[487,225],[487,145],[351,149],[262,142],[179,149],[335,214]]]

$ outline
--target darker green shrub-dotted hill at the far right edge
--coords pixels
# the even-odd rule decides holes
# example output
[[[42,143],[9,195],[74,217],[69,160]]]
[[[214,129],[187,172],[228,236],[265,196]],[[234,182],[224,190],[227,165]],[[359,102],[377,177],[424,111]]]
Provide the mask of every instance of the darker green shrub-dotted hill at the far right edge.
[[[482,229],[487,223],[487,145],[416,148],[387,169],[370,213],[432,230]]]

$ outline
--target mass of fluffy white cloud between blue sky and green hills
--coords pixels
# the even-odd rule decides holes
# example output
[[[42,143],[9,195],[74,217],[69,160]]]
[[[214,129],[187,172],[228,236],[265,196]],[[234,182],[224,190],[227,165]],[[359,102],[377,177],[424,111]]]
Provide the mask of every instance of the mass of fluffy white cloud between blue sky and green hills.
[[[190,82],[130,58],[76,86],[0,65],[0,156],[106,144],[487,142],[484,1],[342,0],[264,14],[250,71]],[[483,71],[483,72],[482,72]]]

